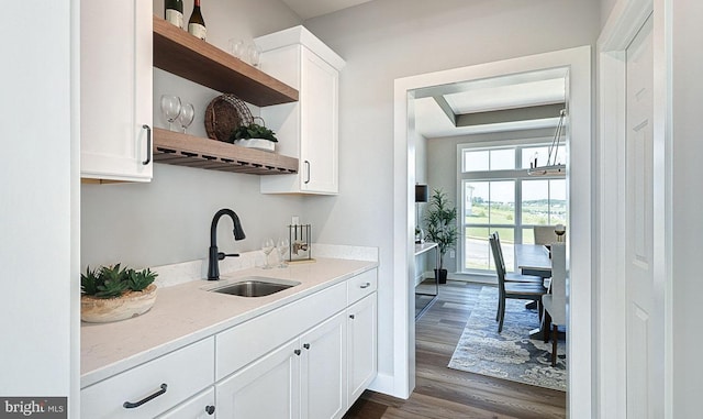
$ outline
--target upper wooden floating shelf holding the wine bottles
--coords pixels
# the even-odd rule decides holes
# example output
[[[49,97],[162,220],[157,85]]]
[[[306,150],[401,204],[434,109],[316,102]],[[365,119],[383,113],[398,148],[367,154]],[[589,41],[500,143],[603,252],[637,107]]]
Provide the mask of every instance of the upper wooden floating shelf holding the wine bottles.
[[[258,107],[298,101],[298,90],[156,15],[154,66]]]

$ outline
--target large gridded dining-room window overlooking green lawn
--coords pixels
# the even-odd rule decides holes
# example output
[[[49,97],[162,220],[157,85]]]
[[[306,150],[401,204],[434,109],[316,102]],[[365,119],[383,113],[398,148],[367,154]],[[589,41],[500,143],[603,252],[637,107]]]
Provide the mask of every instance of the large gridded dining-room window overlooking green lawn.
[[[459,145],[459,178],[464,225],[464,263],[466,273],[494,271],[488,236],[498,231],[503,247],[505,268],[514,266],[514,243],[534,243],[534,225],[566,224],[566,179],[529,177],[527,168],[536,156],[544,165],[550,141],[511,146],[481,147]],[[562,157],[559,157],[562,156]],[[563,162],[566,147],[557,151]]]

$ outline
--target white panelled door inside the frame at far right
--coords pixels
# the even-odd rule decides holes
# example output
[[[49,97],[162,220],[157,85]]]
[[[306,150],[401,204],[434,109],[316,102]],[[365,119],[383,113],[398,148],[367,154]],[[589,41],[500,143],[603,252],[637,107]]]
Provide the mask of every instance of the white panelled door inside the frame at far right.
[[[652,18],[626,49],[625,283],[627,418],[661,418],[663,307],[655,301]]]

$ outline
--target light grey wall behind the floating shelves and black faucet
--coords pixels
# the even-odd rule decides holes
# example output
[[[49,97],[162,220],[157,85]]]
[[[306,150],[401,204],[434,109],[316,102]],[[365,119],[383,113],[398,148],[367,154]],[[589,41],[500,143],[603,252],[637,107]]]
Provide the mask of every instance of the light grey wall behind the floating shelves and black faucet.
[[[164,2],[154,1],[154,13],[164,15]],[[192,0],[183,2],[186,21]],[[203,2],[208,42],[227,51],[228,40],[249,42],[255,36],[300,24],[279,0]],[[203,120],[208,103],[220,92],[154,69],[154,125],[167,128],[161,115],[163,93],[180,96],[194,104],[196,119],[188,132],[207,137]],[[258,112],[253,108],[254,113]],[[284,141],[284,139],[280,139]],[[122,262],[134,267],[204,258],[210,245],[210,222],[221,208],[233,209],[247,238],[234,242],[232,223],[223,219],[217,244],[224,252],[260,247],[261,239],[288,234],[291,216],[315,222],[303,211],[303,199],[259,194],[259,176],[154,165],[150,184],[81,186],[81,266]]]

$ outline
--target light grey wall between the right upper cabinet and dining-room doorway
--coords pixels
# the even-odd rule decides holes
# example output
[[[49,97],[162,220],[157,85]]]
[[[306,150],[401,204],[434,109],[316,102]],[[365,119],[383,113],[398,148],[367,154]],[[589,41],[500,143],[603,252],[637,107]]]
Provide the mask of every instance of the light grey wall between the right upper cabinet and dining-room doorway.
[[[592,0],[377,0],[305,25],[343,58],[339,190],[306,203],[322,242],[380,246],[379,370],[393,374],[393,80],[594,44]],[[359,228],[361,227],[361,228]],[[401,267],[402,271],[402,267]]]

